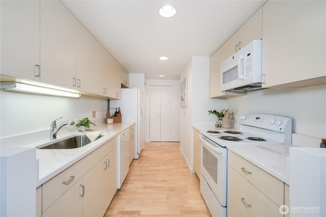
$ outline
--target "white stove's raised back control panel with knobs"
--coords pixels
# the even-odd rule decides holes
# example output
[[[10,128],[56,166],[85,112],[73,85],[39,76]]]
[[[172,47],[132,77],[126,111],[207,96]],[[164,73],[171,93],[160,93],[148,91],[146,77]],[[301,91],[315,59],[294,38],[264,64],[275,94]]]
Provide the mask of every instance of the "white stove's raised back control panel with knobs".
[[[292,128],[292,119],[270,114],[246,114],[240,116],[240,124],[284,132],[286,128]]]

